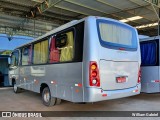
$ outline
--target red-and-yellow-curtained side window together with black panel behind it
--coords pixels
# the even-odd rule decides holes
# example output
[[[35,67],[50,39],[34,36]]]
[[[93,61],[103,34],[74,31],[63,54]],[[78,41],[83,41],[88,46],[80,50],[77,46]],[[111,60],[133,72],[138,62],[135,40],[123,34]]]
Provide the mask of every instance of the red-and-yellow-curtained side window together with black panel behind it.
[[[67,61],[82,62],[83,42],[84,22],[51,36],[49,40],[50,63]]]

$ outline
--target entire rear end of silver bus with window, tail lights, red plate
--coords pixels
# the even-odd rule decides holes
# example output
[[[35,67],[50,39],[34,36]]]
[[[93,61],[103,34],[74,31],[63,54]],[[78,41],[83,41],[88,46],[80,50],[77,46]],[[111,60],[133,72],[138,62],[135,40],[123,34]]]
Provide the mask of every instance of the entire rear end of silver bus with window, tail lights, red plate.
[[[89,49],[85,49],[84,54],[89,57],[84,56],[87,61],[84,68],[88,67],[84,73],[84,79],[88,78],[84,82],[84,101],[139,94],[141,60],[136,29],[116,20],[97,17],[89,18],[86,24],[88,42],[85,48]]]

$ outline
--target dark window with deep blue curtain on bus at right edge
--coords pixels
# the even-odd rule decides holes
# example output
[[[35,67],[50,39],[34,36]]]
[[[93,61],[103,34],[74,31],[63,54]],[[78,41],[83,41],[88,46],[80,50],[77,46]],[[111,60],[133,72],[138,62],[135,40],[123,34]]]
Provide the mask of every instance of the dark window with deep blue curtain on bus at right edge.
[[[145,41],[140,43],[142,66],[155,66],[158,64],[158,41]]]

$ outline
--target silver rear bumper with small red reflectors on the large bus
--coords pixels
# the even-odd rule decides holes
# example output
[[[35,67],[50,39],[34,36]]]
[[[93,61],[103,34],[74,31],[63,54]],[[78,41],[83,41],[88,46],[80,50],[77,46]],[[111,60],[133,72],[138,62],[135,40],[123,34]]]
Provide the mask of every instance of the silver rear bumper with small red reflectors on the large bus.
[[[141,84],[123,90],[103,91],[98,88],[86,88],[84,92],[84,102],[97,102],[103,100],[117,99],[140,94]]]

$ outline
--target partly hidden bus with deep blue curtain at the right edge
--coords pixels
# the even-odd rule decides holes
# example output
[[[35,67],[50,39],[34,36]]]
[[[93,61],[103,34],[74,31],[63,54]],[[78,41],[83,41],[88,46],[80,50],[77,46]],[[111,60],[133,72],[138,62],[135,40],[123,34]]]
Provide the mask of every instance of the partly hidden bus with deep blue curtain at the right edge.
[[[160,36],[140,39],[142,90],[145,93],[160,92]]]

